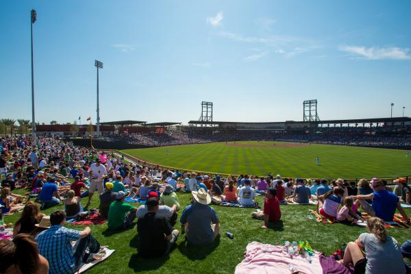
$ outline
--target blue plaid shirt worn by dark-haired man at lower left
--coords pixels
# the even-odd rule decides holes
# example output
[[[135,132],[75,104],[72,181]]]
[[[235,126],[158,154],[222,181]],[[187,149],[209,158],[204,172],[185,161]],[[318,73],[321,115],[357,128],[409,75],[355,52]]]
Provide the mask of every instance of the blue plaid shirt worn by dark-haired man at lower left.
[[[80,232],[61,225],[52,225],[36,237],[40,254],[49,261],[49,274],[72,274],[75,260],[71,241],[79,240]]]

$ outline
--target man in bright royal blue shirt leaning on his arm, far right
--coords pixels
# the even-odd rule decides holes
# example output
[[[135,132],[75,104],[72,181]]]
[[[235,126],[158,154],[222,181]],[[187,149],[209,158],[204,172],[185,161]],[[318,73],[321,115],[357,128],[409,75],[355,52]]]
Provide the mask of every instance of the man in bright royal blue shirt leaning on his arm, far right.
[[[361,208],[365,210],[370,216],[377,216],[384,221],[393,221],[395,210],[406,220],[406,223],[410,223],[406,212],[401,207],[399,197],[393,192],[389,192],[385,189],[384,184],[377,180],[373,183],[374,192],[369,195],[357,195],[353,196],[358,199],[357,203],[361,205]],[[373,204],[370,205],[364,200],[372,199]]]

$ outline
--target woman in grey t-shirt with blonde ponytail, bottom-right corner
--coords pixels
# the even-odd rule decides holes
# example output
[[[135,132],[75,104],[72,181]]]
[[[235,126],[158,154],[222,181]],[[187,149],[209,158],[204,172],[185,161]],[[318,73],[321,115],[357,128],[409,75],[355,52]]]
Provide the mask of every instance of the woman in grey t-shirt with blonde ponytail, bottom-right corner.
[[[349,242],[339,262],[345,266],[352,263],[355,273],[406,274],[398,242],[386,234],[384,221],[373,217],[366,226],[370,233],[362,233],[356,242]],[[365,256],[362,249],[365,249]]]

